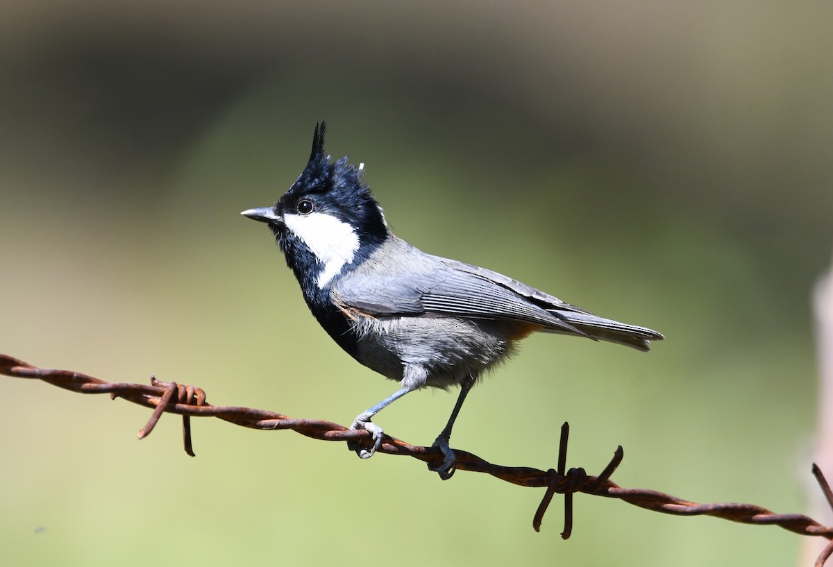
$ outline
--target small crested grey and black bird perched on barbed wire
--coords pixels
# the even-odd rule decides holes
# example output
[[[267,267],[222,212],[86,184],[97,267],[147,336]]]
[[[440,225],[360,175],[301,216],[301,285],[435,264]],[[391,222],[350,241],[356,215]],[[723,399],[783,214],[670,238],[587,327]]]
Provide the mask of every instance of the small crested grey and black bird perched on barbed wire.
[[[581,336],[648,351],[664,337],[646,327],[595,316],[521,281],[461,261],[433,256],[396,236],[364,180],[364,166],[333,162],[316,124],[307,166],[273,206],[242,211],[267,224],[294,272],[309,310],[344,351],[399,382],[392,395],[357,415],[370,446],[348,446],[363,459],[382,444],[372,419],[403,395],[459,386],[429,464],[451,478],[451,429],[471,387],[533,332]],[[437,461],[439,460],[439,455]]]

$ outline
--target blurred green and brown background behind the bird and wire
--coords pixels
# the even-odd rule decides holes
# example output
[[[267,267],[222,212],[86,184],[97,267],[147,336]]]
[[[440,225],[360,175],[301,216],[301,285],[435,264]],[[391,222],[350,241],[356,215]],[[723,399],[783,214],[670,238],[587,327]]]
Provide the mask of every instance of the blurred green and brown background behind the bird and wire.
[[[810,510],[831,260],[829,2],[3,2],[0,351],[349,424],[396,385],[332,344],[264,226],[312,128],[397,234],[666,334],[534,336],[453,446]],[[2,378],[5,565],[793,565],[774,527],[541,490]],[[455,395],[377,421],[429,444]],[[820,518],[830,520],[830,518]],[[696,542],[696,544],[695,544]]]

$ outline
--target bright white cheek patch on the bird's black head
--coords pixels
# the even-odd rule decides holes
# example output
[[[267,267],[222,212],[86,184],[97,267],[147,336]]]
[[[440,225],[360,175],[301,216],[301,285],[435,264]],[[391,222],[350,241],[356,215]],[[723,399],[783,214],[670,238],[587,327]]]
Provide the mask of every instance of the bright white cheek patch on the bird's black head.
[[[284,215],[283,222],[316,255],[324,269],[318,274],[319,288],[327,286],[342,267],[351,263],[359,249],[359,237],[347,222],[322,212]]]

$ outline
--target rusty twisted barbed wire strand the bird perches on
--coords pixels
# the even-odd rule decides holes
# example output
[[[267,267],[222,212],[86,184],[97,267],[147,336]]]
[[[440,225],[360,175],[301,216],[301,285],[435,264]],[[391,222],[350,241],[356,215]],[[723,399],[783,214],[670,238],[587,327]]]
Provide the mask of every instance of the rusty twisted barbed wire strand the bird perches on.
[[[332,421],[297,419],[273,411],[257,410],[231,405],[211,405],[206,401],[206,393],[192,385],[176,382],[162,382],[151,376],[151,384],[127,382],[109,382],[80,372],[38,368],[12,356],[0,354],[0,374],[16,378],[36,379],[56,385],[65,390],[82,394],[110,394],[111,399],[122,398],[134,404],[153,409],[147,424],[139,430],[142,439],[151,433],[163,413],[182,415],[182,438],[185,451],[194,456],[191,441],[191,417],[217,417],[242,427],[259,430],[294,430],[313,439],[328,441],[352,441],[363,445],[372,443],[371,436],[365,430],[350,430],[344,425]],[[616,467],[621,463],[624,451],[619,446],[611,462],[599,475],[587,475],[581,468],[566,470],[566,450],[569,425],[561,426],[561,442],[558,450],[557,468],[539,470],[532,467],[495,465],[465,450],[455,449],[456,470],[481,472],[505,480],[513,485],[528,487],[546,487],[546,493],[536,510],[532,527],[541,530],[541,521],[552,497],[562,494],[564,505],[564,530],[561,537],[565,540],[572,531],[572,495],[581,492],[587,495],[616,498],[628,504],[639,506],[671,515],[709,515],[723,520],[731,520],[751,525],[779,525],[800,535],[814,535],[833,540],[833,527],[821,525],[801,514],[776,514],[761,506],[724,502],[717,504],[697,504],[658,492],[656,490],[627,489],[610,480]],[[391,435],[385,435],[379,453],[389,455],[408,455],[428,463],[429,466],[441,464],[443,455],[436,447],[410,445]],[[821,470],[814,464],[812,473],[816,476],[828,504],[833,508],[833,491]],[[824,565],[833,554],[833,541],[821,552],[816,567]]]

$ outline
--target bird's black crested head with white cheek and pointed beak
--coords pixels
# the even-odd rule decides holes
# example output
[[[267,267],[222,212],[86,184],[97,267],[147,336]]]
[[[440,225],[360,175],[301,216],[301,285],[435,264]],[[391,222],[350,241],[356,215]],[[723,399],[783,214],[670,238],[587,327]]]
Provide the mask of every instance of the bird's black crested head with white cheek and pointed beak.
[[[316,125],[307,167],[274,206],[241,214],[266,222],[302,286],[325,288],[334,277],[385,241],[387,222],[362,171],[347,157],[331,162],[324,152],[326,125]]]

